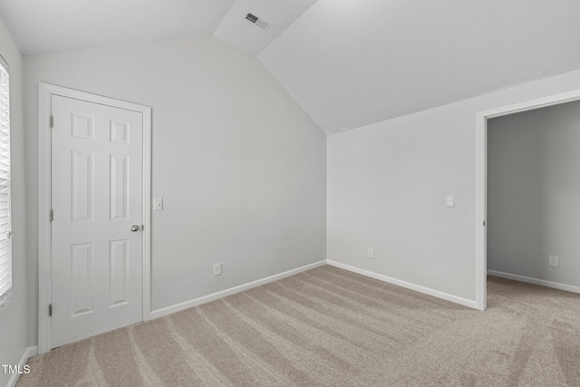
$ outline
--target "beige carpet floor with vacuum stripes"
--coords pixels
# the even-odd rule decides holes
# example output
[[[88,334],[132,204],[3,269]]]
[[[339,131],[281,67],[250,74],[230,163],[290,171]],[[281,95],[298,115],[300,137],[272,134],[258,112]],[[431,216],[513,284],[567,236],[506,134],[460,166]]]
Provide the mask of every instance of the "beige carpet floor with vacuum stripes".
[[[332,266],[73,343],[29,386],[580,386],[580,295],[490,277],[478,312]]]

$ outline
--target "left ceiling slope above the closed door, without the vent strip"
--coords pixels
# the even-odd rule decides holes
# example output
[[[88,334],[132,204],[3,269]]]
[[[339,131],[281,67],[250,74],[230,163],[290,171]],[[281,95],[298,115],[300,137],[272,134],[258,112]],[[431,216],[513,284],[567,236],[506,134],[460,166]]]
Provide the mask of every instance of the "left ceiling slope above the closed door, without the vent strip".
[[[21,53],[211,35],[236,0],[0,0]]]

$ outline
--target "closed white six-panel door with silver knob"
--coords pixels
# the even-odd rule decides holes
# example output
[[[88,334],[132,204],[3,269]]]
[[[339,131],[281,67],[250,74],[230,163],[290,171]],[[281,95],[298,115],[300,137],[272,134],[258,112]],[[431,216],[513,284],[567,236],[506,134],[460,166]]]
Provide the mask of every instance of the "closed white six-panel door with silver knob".
[[[52,97],[52,348],[142,320],[143,116]]]

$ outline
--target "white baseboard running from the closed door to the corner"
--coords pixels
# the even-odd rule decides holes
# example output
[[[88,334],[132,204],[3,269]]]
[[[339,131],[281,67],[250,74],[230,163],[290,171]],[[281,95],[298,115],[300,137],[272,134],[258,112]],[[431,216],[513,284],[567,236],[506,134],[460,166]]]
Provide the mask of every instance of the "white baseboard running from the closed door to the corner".
[[[266,278],[262,278],[262,279],[258,279],[256,281],[248,282],[247,284],[244,284],[244,285],[230,287],[229,289],[222,290],[221,292],[218,292],[218,293],[213,293],[211,295],[204,295],[204,296],[198,297],[198,298],[193,299],[193,300],[189,300],[189,301],[186,301],[183,303],[179,303],[176,305],[171,305],[171,306],[167,306],[167,307],[164,307],[161,309],[151,311],[150,316],[151,316],[151,319],[154,319],[154,318],[162,317],[162,316],[167,315],[167,314],[180,312],[184,309],[189,309],[190,307],[193,307],[193,306],[206,304],[210,301],[217,300],[218,298],[226,297],[227,295],[235,295],[236,293],[243,292],[247,289],[251,289],[252,287],[256,287],[259,285],[265,285],[269,282],[274,282],[274,281],[277,281],[278,279],[285,278],[286,276],[294,276],[295,274],[304,272],[306,270],[314,269],[314,267],[319,267],[319,266],[324,266],[324,265],[326,265],[325,260],[315,262],[314,264],[298,267],[298,268],[295,268],[292,270],[288,270],[284,273],[276,274],[275,276],[267,276]]]

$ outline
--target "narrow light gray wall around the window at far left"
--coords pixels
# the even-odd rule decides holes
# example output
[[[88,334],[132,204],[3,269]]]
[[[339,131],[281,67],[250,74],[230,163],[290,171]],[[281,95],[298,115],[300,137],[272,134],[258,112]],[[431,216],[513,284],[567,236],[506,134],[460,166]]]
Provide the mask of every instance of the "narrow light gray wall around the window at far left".
[[[24,350],[36,344],[36,306],[34,292],[36,262],[26,252],[24,203],[24,112],[23,59],[10,32],[0,21],[0,54],[10,72],[10,140],[12,156],[12,282],[13,300],[0,314],[0,364],[18,363]],[[0,385],[5,386],[12,375],[0,370]]]

